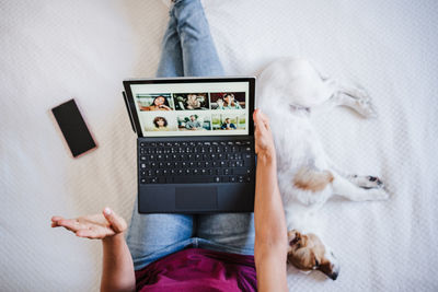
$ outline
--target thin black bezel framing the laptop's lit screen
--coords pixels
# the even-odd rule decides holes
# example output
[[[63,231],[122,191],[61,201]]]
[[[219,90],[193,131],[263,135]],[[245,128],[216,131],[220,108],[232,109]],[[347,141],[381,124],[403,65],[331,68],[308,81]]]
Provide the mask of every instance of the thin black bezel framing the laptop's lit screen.
[[[137,109],[134,101],[134,95],[130,90],[130,85],[132,84],[163,84],[163,83],[230,83],[230,82],[249,82],[249,133],[240,135],[242,137],[254,136],[254,121],[253,121],[253,112],[254,112],[254,100],[255,100],[255,77],[223,77],[223,78],[193,78],[193,77],[180,77],[180,78],[154,78],[154,79],[134,79],[134,80],[124,80],[123,84],[126,92],[126,97],[128,101],[129,109],[131,117],[134,119],[134,125],[137,131],[137,136],[139,138],[152,138],[145,136],[143,130],[140,126],[140,119],[137,115]],[[129,114],[129,113],[128,113]],[[233,137],[238,137],[239,135],[229,135]],[[172,137],[186,137],[184,135],[172,135]],[[191,136],[191,137],[201,137],[201,136]],[[219,136],[209,136],[209,137],[219,137]],[[223,137],[223,136],[222,136]],[[153,137],[158,138],[158,137]],[[163,138],[169,138],[169,136],[163,136]]]

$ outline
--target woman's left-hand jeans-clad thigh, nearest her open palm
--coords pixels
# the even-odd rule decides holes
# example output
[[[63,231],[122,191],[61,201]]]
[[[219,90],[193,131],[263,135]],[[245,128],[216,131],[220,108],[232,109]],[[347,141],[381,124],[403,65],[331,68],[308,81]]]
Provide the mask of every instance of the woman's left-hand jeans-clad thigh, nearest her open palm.
[[[193,235],[193,217],[140,214],[134,208],[126,235],[136,269],[184,248]]]

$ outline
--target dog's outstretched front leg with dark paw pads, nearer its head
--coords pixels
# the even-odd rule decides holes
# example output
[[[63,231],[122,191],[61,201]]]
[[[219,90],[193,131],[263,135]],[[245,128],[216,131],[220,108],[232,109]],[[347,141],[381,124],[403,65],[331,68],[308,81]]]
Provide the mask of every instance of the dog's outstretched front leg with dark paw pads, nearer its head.
[[[381,180],[373,176],[349,176],[333,172],[333,192],[353,201],[387,200],[389,195]]]

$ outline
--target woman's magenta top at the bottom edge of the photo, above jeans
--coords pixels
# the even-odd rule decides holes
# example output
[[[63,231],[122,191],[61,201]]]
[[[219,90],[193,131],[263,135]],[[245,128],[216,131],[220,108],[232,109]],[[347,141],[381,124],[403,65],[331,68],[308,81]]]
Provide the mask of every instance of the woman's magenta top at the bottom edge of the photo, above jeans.
[[[257,291],[254,256],[188,248],[136,271],[137,291]]]

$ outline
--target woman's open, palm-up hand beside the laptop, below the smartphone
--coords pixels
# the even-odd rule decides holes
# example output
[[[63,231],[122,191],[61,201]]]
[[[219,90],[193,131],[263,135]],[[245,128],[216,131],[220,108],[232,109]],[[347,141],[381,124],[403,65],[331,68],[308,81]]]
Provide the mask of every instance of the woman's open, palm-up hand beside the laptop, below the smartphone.
[[[122,217],[114,213],[110,208],[105,208],[101,214],[83,215],[76,219],[64,219],[55,215],[51,218],[51,227],[65,227],[79,237],[105,240],[122,234],[127,229],[127,224]]]

